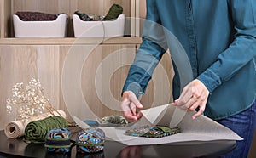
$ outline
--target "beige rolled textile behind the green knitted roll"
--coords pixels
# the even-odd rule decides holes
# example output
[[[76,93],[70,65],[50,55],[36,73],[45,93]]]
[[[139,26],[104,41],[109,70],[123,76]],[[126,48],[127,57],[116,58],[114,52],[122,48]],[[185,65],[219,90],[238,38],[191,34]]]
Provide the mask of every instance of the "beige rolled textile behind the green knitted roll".
[[[53,113],[54,113],[54,116],[62,116],[64,118],[67,117],[66,113],[63,110],[57,110],[57,111],[54,111]],[[41,114],[39,116],[33,116],[28,121],[24,121],[24,120],[11,121],[6,125],[4,129],[4,133],[7,138],[19,138],[21,136],[24,136],[26,125],[29,122],[41,120],[49,116],[53,116],[53,115],[48,112],[48,113]]]

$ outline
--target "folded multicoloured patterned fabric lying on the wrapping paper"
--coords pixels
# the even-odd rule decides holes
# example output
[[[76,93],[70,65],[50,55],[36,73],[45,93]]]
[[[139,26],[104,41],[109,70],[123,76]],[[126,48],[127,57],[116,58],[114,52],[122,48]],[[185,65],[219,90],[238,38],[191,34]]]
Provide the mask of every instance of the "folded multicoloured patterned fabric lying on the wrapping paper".
[[[125,131],[126,135],[146,138],[162,138],[176,133],[180,133],[179,127],[169,128],[162,126],[143,126]]]

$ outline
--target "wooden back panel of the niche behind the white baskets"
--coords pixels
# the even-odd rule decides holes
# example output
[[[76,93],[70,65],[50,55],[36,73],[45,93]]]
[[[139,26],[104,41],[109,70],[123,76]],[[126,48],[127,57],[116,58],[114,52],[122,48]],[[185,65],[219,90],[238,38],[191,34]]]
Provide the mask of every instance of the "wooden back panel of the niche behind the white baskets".
[[[2,1],[7,3],[6,0]],[[3,19],[8,20],[9,28],[3,28],[3,30],[9,30],[8,36],[5,37],[14,37],[11,15],[17,11],[34,11],[49,14],[66,13],[69,15],[67,37],[73,37],[72,14],[76,10],[82,13],[106,15],[113,3],[117,3],[123,7],[123,13],[126,17],[131,16],[131,2],[127,0],[10,0],[8,7],[3,8],[3,5],[0,5],[3,11],[9,12],[9,14],[3,15]],[[125,20],[125,22],[125,34],[130,34],[130,20]]]

